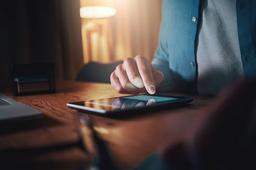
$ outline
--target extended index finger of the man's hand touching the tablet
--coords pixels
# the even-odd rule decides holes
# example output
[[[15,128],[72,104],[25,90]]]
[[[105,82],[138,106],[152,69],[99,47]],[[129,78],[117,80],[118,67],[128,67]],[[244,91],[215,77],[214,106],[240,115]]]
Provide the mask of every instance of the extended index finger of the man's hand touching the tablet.
[[[142,56],[137,56],[135,59],[146,90],[149,94],[154,94],[156,92],[156,87],[154,84],[154,78],[152,75],[150,62],[148,61],[148,59],[145,59],[145,57]]]

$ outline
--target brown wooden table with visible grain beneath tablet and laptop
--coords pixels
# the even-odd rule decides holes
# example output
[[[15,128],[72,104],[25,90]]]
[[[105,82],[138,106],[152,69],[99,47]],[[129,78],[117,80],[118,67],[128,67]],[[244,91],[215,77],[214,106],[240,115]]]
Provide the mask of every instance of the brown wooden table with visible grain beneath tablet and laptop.
[[[44,113],[41,119],[0,124],[1,149],[76,142],[79,138],[74,121],[76,111],[67,108],[66,103],[124,96],[116,93],[111,85],[101,83],[57,81],[56,89],[56,94],[14,97],[10,86],[0,88],[0,93]],[[166,144],[179,140],[180,134],[186,130],[198,110],[207,107],[212,100],[207,97],[193,97],[194,101],[188,107],[159,111],[130,119],[90,117],[98,135],[106,142],[116,166],[131,168]],[[72,148],[35,156],[29,161],[58,166],[64,164],[66,169],[72,169],[85,164],[87,155],[79,148]]]

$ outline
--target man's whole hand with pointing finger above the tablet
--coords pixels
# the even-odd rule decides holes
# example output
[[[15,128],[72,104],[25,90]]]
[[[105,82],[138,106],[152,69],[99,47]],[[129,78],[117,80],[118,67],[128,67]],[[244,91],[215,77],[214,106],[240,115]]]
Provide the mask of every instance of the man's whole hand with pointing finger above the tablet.
[[[163,79],[163,73],[154,69],[150,61],[140,55],[126,58],[110,77],[111,85],[121,94],[154,94]]]

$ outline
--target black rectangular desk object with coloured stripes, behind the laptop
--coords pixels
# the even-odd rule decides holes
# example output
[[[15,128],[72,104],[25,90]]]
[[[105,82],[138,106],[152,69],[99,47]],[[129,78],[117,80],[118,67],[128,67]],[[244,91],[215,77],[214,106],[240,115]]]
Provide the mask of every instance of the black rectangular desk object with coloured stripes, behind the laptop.
[[[55,93],[52,63],[13,64],[11,71],[14,96]]]

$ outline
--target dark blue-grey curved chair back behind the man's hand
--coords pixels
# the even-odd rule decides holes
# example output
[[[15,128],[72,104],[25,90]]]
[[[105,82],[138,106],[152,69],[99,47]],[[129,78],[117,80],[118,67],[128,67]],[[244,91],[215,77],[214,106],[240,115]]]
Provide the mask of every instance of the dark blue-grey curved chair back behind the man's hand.
[[[111,83],[111,73],[115,71],[117,65],[122,63],[123,61],[117,61],[110,64],[89,62],[81,68],[76,77],[76,81]]]

